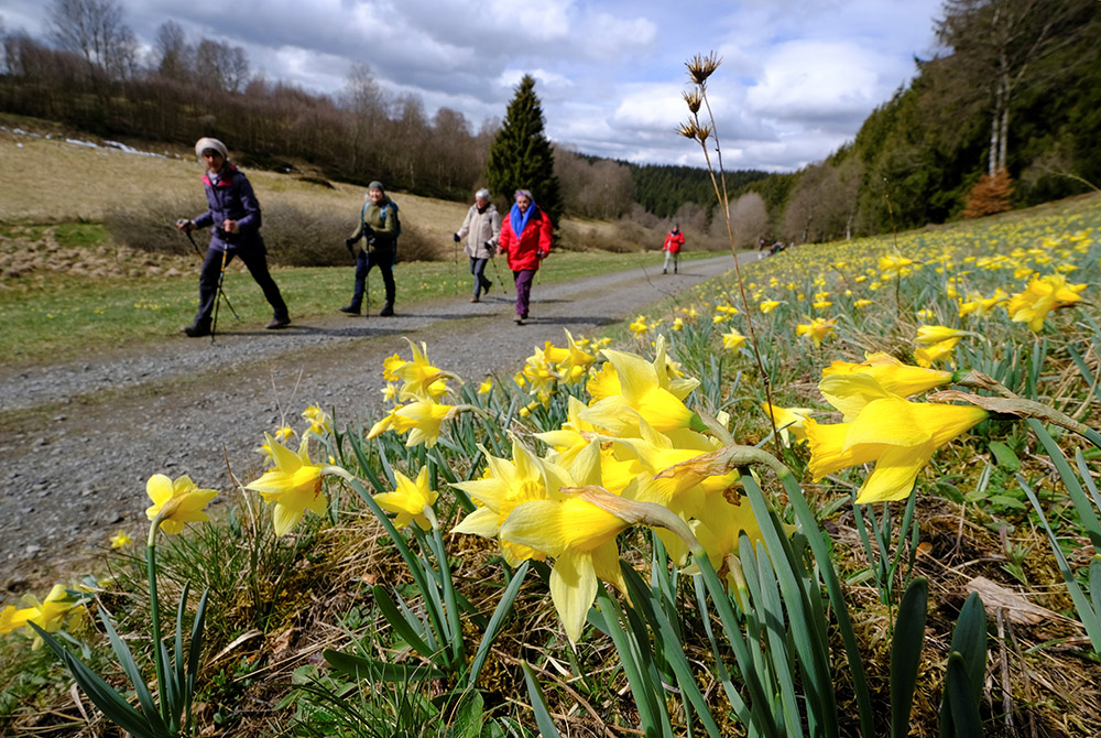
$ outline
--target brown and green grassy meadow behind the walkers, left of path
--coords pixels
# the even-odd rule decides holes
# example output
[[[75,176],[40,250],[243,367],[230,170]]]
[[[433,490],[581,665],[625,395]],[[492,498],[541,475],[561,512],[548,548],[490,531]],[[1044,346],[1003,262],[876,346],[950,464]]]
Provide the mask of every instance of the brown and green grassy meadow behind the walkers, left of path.
[[[176,217],[205,208],[201,169],[189,152],[139,156],[59,137],[0,132],[0,161],[11,173],[0,184],[0,366],[165,340],[190,322],[198,303],[199,257],[173,226]],[[273,273],[292,317],[333,315],[351,294],[344,238],[355,225],[363,188],[326,187],[302,175],[263,171],[250,171],[249,177],[264,207]],[[471,278],[451,234],[468,206],[400,193],[393,197],[404,224],[399,310],[466,295]],[[318,217],[324,237],[308,228]],[[117,226],[129,242],[120,243],[108,226]],[[547,262],[544,282],[661,263],[661,254],[644,257],[637,250],[576,248],[618,242],[623,234],[613,224],[570,220],[564,230],[564,249]],[[206,239],[196,234],[200,249]],[[659,246],[661,235],[651,240],[651,248]],[[317,257],[309,261],[336,265],[285,265],[287,252],[307,249]],[[423,259],[414,260],[418,254]],[[712,254],[688,251],[684,258],[707,256]],[[509,279],[503,260],[497,268]],[[492,268],[490,276],[497,281]],[[371,303],[381,305],[381,278],[372,274],[368,285]],[[270,318],[269,305],[240,261],[230,264],[225,290],[242,323],[226,314],[224,326],[258,326]]]

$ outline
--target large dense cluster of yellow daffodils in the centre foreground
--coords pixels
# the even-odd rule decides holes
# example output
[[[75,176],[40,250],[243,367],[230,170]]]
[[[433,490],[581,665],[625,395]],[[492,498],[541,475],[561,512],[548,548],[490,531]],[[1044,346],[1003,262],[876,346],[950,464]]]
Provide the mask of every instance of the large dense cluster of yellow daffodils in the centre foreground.
[[[536,434],[549,447],[544,457],[514,438],[511,459],[489,455],[481,478],[456,485],[479,507],[453,532],[495,539],[514,565],[555,560],[550,595],[574,641],[598,580],[623,588],[615,538],[640,511],[690,521],[717,566],[737,550],[739,531],[760,535],[733,490],[735,475],[715,476],[691,465],[723,443],[704,433],[702,419],[685,404],[698,381],[682,377],[667,359],[664,337],[653,361],[611,349],[602,354],[607,361],[587,382],[590,401],[570,397],[566,422]],[[672,467],[674,474],[662,474]],[[687,544],[664,529],[657,534],[683,562]]]

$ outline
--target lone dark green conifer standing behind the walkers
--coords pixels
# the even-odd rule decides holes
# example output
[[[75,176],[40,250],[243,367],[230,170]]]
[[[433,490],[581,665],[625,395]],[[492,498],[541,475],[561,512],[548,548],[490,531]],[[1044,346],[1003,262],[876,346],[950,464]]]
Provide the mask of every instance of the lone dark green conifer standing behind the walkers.
[[[535,78],[524,75],[490,146],[486,181],[490,189],[510,199],[516,189],[531,189],[535,203],[557,226],[563,213],[562,193],[554,175],[554,152],[543,133],[544,123]]]

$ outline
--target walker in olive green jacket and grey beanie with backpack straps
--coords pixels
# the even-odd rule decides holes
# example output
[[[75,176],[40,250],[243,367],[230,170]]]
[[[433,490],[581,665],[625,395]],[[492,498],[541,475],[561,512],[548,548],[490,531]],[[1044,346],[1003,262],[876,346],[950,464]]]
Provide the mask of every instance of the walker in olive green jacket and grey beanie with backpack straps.
[[[394,314],[394,264],[397,262],[397,235],[401,232],[397,219],[397,204],[390,199],[381,182],[367,186],[367,204],[360,211],[359,225],[345,239],[345,246],[356,258],[356,286],[351,302],[340,308],[341,313],[359,315],[367,293],[367,275],[372,267],[382,272],[382,283],[386,287],[386,304],[379,312],[382,317]],[[359,239],[364,239],[364,248],[356,250]]]

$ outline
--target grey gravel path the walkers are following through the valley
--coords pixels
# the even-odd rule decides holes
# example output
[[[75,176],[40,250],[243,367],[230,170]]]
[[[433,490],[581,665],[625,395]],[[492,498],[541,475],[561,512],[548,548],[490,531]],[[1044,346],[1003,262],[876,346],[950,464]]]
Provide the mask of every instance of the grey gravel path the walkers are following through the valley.
[[[685,262],[678,275],[637,269],[541,285],[524,326],[512,323],[511,285],[508,295],[494,285],[479,304],[464,295],[403,310],[399,275],[393,318],[334,311],[282,332],[222,319],[214,344],[174,337],[79,362],[0,370],[0,599],[4,589],[83,573],[75,571],[80,560],[119,529],[143,536],[152,474],[187,474],[200,487],[228,489],[225,459],[239,477],[259,474],[253,449],[262,433],[284,417],[301,430],[309,404],[336,409],[340,427],[378,417],[382,359],[408,355],[404,336],[426,341],[434,363],[467,381],[511,376],[533,347],[562,345],[564,328],[597,335],[731,268],[723,257]]]

